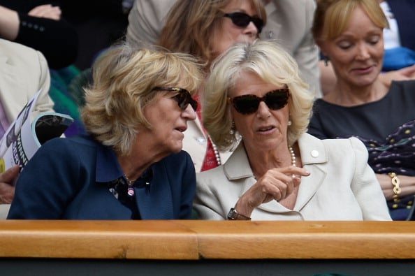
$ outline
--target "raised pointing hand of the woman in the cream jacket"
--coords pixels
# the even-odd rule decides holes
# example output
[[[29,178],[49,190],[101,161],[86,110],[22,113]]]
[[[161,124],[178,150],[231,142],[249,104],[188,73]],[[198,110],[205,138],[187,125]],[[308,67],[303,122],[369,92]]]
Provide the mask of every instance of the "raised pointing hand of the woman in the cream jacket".
[[[235,209],[240,214],[250,217],[254,208],[272,200],[280,201],[292,194],[295,187],[301,182],[302,176],[310,173],[305,168],[289,166],[284,168],[272,168],[242,194],[235,204]]]

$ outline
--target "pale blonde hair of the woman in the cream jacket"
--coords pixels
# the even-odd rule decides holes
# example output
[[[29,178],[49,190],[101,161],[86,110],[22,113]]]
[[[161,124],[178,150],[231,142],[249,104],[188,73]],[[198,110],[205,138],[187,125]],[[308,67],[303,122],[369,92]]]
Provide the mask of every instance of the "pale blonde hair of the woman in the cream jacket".
[[[243,72],[256,73],[265,83],[290,90],[289,112],[292,121],[288,127],[289,145],[307,131],[312,114],[314,95],[298,75],[298,65],[277,43],[256,40],[251,45],[235,44],[218,57],[204,92],[203,126],[213,143],[227,150],[238,143],[239,135],[233,129],[229,92],[234,89]]]

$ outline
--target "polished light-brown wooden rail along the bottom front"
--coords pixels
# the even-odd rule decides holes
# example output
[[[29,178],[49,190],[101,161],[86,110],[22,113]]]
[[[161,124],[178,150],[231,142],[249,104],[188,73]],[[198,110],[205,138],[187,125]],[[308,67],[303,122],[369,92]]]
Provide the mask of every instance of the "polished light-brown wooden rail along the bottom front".
[[[415,221],[5,220],[0,257],[415,259]]]

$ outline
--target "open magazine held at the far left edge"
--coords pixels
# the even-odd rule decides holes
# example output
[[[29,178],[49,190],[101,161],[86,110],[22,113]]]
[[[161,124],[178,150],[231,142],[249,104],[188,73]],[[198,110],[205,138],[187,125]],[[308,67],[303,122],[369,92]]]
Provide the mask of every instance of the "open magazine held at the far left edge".
[[[22,170],[43,143],[61,136],[73,123],[70,116],[55,112],[42,112],[33,122],[30,122],[29,115],[34,108],[38,94],[39,92],[23,108],[0,141],[0,173],[15,164],[18,164]]]

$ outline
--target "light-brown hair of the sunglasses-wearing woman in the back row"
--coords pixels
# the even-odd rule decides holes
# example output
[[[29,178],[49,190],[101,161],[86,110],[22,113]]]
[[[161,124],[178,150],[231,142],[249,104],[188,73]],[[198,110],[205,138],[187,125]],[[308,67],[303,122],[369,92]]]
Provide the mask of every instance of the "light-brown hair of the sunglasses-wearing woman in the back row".
[[[174,51],[194,55],[205,65],[216,57],[212,52],[213,34],[221,31],[225,20],[224,8],[232,1],[241,0],[177,0],[167,15],[159,37],[159,45]],[[244,0],[245,1],[245,0]],[[261,0],[250,0],[256,15],[266,23],[266,12]]]

